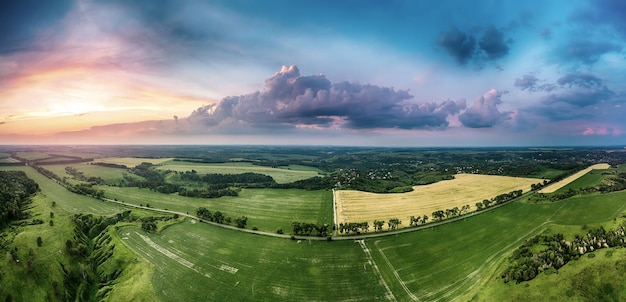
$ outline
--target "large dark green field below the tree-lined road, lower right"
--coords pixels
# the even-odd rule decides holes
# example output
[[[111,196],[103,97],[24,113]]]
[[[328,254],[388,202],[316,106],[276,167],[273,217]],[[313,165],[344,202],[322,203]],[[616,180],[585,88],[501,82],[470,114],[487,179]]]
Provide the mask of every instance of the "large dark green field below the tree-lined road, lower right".
[[[420,300],[452,300],[479,292],[486,280],[504,269],[499,264],[507,255],[530,236],[557,223],[578,223],[580,229],[583,223],[611,220],[625,204],[626,192],[553,204],[516,202],[433,229],[366,242],[399,300],[410,299],[400,280]]]

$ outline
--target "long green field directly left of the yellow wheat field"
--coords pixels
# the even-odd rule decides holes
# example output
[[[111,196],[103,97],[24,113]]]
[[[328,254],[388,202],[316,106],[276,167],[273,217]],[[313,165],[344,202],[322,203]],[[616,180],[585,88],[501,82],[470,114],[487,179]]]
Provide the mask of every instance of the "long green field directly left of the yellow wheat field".
[[[206,199],[162,194],[149,189],[101,187],[105,196],[135,205],[150,204],[153,208],[195,214],[199,207],[211,212],[221,211],[233,219],[248,217],[248,228],[274,232],[281,227],[285,233],[294,221],[333,223],[332,192],[280,189],[242,189],[239,196]]]

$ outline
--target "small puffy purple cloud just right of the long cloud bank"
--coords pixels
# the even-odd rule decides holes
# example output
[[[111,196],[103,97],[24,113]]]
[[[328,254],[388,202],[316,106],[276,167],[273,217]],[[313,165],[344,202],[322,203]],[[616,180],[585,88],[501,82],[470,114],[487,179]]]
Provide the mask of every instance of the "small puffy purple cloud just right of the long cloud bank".
[[[474,105],[459,115],[459,121],[469,128],[488,128],[495,126],[507,114],[498,110],[502,103],[502,93],[495,89],[489,90],[483,96],[476,98]]]

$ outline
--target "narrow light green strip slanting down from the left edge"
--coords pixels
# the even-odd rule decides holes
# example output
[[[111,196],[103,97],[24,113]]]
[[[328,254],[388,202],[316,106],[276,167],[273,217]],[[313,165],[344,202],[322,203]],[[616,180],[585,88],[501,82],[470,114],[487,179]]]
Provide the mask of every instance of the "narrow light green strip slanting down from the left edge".
[[[41,175],[35,169],[26,166],[0,167],[0,170],[19,170],[33,179],[41,189],[43,196],[50,202],[56,202],[58,208],[70,213],[86,213],[95,215],[111,215],[123,211],[123,207],[117,204],[104,202],[92,197],[69,192],[55,181]]]

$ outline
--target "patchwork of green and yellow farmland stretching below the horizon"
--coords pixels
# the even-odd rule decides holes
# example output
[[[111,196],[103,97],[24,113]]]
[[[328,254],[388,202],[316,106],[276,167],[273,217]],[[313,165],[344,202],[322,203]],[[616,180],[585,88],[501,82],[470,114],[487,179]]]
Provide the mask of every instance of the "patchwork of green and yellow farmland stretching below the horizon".
[[[626,222],[623,218],[626,191],[619,186],[626,167],[620,165],[626,161],[622,158],[624,153],[577,149],[552,152],[544,149],[94,148],[74,147],[77,151],[72,152],[74,149],[61,147],[41,146],[34,151],[21,147],[17,154],[32,159],[47,158],[48,154],[93,155],[93,158],[114,159],[116,164],[129,164],[129,168],[86,163],[43,165],[65,179],[49,175],[56,179],[52,180],[42,174],[45,171],[39,173],[33,167],[0,167],[0,170],[24,171],[41,188],[32,196],[32,205],[27,209],[32,216],[0,229],[0,249],[7,254],[0,263],[1,298],[11,294],[17,301],[62,301],[58,289],[66,288],[67,276],[59,263],[76,260],[66,242],[78,238],[74,233],[77,229],[74,217],[92,214],[94,219],[100,216],[111,219],[121,217],[122,213],[130,213],[132,219],[115,220],[107,228],[115,249],[104,267],[107,271],[122,270],[104,301],[527,301],[545,297],[583,301],[589,297],[585,295],[595,293],[591,297],[597,298],[607,291],[617,300],[624,298],[601,286],[611,284],[618,289],[626,281],[620,270],[623,249],[597,250],[593,253],[595,258],[584,255],[560,268],[558,274],[547,270],[520,284],[505,284],[500,277],[510,264],[513,251],[535,235],[559,233],[571,240],[592,228],[608,230]],[[0,147],[0,152],[13,153],[6,149]],[[133,152],[137,157],[132,157]],[[208,155],[203,158],[202,154]],[[147,158],[157,165],[134,169],[133,163],[150,161]],[[193,158],[198,162],[172,158]],[[242,162],[229,162],[233,159]],[[209,163],[212,160],[225,161]],[[289,239],[292,222],[333,225],[332,188],[337,192],[338,203],[344,202],[338,206],[344,213],[338,211],[338,215],[345,214],[345,210],[369,215],[377,212],[380,216],[367,219],[371,222],[398,217],[403,221],[401,227],[405,227],[409,215],[430,216],[434,210],[466,204],[473,210],[476,202],[500,193],[527,191],[531,184],[543,181],[539,176],[564,178],[588,166],[587,163],[602,162],[619,168],[593,170],[555,193],[531,192],[477,215],[460,215],[436,223],[430,220],[431,223],[401,230],[403,233],[370,232],[357,239],[330,234],[328,238],[297,235]],[[72,173],[66,173],[66,167],[76,169],[85,178],[101,178],[104,182],[78,180]],[[215,167],[219,170],[214,170]],[[224,186],[236,192],[236,196],[216,198],[183,196],[182,191],[165,192],[169,186],[192,190],[220,184],[219,180],[211,183],[183,179],[181,172],[190,170],[199,175],[254,172],[272,175],[280,183],[247,183],[244,177],[229,180]],[[454,171],[455,179],[440,181],[448,178],[446,173],[450,171]],[[484,174],[463,173],[477,171]],[[130,182],[129,177],[137,181]],[[262,179],[258,175],[247,177]],[[415,183],[431,184],[416,186]],[[79,185],[102,190],[106,198],[127,205],[150,208],[138,209],[93,198],[89,191],[81,193],[85,195],[68,191]],[[359,187],[399,191],[398,188],[407,185],[414,191],[375,194],[354,190]],[[559,199],[549,198],[562,192],[573,193]],[[350,193],[367,198],[346,207],[346,199],[341,198],[355,197],[342,194]],[[396,206],[394,202],[404,204]],[[431,209],[420,212],[425,205]],[[202,223],[198,218],[159,212],[168,209],[195,215],[200,207],[223,212],[230,218],[246,216],[247,232],[258,229],[267,233],[241,232],[232,222],[224,223],[231,228],[221,228]],[[361,221],[355,217],[355,221]],[[337,218],[338,223],[342,222],[341,216]],[[34,223],[36,219],[43,223]],[[52,220],[54,225],[48,225]],[[150,227],[151,223],[154,228]],[[271,236],[278,228],[284,230],[284,237]],[[39,236],[43,237],[41,246],[36,244]],[[12,261],[13,251],[21,259],[28,259],[31,249],[35,255],[31,264]],[[73,267],[79,269],[80,265]],[[587,275],[595,277],[581,277]],[[32,282],[25,285],[22,280]],[[533,289],[532,296],[528,296],[528,288]]]

